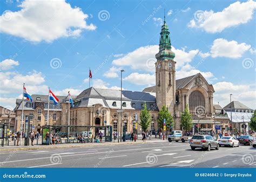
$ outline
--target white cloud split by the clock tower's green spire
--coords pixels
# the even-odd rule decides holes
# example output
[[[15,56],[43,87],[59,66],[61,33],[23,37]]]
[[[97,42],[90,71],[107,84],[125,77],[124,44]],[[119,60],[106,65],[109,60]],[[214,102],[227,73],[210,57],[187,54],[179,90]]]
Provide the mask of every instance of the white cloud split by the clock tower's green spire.
[[[158,45],[139,47],[118,59],[114,59],[112,64],[117,66],[130,66],[132,69],[143,69],[144,71],[154,72],[156,70],[154,63],[157,61],[155,55],[158,51]],[[175,47],[172,47],[172,51],[176,54],[174,60],[177,62],[177,68],[184,66],[187,62],[191,62],[199,52],[199,50],[186,52],[185,48],[179,50]]]

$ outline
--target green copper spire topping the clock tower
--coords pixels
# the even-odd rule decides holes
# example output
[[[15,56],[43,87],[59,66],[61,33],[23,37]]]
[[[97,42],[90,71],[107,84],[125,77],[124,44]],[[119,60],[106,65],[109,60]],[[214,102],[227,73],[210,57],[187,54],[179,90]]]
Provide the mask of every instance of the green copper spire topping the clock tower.
[[[159,42],[159,53],[156,54],[156,58],[159,60],[172,59],[175,57],[174,52],[171,51],[171,38],[169,27],[165,22],[164,14],[164,25],[161,26],[160,42]]]

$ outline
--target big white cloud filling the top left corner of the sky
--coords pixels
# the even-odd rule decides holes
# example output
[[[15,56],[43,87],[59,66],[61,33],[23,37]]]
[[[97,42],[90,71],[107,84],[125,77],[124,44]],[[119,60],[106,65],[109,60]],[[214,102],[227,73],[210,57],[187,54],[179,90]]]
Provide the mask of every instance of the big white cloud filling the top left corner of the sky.
[[[87,14],[78,7],[72,8],[65,0],[25,0],[19,8],[0,16],[1,32],[32,42],[51,42],[60,37],[77,37],[83,29],[96,29],[93,24],[87,25]]]

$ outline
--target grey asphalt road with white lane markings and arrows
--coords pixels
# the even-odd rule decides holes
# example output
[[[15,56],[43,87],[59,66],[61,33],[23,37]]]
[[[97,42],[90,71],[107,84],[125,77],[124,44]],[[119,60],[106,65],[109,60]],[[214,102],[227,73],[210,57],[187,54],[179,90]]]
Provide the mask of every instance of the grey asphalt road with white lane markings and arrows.
[[[252,146],[192,151],[188,143],[156,142],[2,151],[0,167],[256,167]]]

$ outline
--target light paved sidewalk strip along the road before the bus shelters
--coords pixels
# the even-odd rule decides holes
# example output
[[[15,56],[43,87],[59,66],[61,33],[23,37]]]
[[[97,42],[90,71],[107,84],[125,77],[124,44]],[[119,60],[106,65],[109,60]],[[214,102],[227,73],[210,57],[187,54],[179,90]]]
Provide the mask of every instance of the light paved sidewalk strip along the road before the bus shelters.
[[[118,143],[117,139],[114,142],[103,142],[103,143],[62,143],[55,145],[34,145],[34,146],[14,146],[14,145],[4,145],[0,146],[0,151],[18,151],[18,150],[37,150],[37,149],[61,149],[61,148],[71,148],[71,147],[85,147],[85,146],[107,146],[107,145],[124,145],[124,144],[143,144],[143,143],[156,143],[156,142],[168,142],[167,140],[163,141],[163,139],[151,138],[147,139],[146,142],[142,141],[142,138],[137,139],[136,142],[126,141]]]

